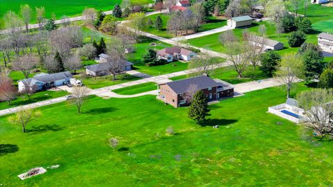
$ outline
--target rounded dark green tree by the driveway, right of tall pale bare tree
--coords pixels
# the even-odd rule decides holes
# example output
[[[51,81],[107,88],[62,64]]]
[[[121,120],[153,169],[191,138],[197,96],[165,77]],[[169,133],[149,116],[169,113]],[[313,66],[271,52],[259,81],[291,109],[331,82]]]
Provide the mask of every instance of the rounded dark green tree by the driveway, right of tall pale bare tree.
[[[278,69],[278,64],[281,61],[281,56],[275,51],[268,51],[260,56],[260,62],[262,66],[260,69],[269,77],[272,77],[275,71]]]

